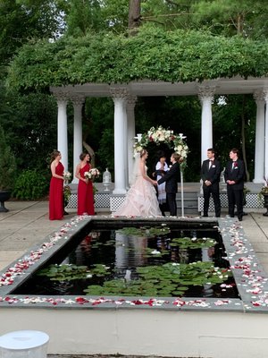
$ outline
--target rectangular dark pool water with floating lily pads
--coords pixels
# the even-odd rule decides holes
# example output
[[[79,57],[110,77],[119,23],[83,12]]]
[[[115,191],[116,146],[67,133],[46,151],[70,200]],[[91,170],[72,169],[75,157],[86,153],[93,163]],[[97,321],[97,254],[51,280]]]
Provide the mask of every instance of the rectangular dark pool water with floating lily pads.
[[[229,267],[212,223],[93,220],[13,294],[238,298]]]

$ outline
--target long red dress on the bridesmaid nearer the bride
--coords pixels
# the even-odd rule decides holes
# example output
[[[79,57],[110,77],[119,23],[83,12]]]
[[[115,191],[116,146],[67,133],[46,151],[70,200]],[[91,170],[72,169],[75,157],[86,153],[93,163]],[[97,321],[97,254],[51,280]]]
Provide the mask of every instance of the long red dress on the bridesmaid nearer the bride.
[[[88,172],[90,165],[86,164],[80,168],[80,177],[85,178],[85,172]],[[94,215],[94,197],[93,197],[93,183],[91,180],[88,183],[80,180],[78,185],[78,215],[88,214]]]

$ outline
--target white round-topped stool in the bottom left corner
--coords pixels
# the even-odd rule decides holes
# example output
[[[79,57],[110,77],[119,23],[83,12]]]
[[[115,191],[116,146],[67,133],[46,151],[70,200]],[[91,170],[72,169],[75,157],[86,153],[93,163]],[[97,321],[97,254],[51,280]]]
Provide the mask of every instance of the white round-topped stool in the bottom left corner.
[[[0,358],[46,358],[48,335],[38,330],[17,330],[0,337]]]

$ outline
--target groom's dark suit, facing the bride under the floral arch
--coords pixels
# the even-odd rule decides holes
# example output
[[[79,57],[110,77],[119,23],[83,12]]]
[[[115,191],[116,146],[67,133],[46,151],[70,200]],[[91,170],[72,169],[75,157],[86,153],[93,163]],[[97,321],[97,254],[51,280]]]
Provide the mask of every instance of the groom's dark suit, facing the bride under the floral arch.
[[[172,217],[177,216],[176,193],[178,192],[178,182],[180,181],[180,164],[174,163],[171,169],[158,180],[158,184],[165,182],[166,200]]]

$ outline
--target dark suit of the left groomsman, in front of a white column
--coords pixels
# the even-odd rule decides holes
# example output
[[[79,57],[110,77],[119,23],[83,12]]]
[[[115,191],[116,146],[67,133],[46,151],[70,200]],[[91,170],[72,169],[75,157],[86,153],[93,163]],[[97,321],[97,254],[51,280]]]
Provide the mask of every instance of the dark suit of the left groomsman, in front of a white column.
[[[214,208],[216,217],[221,217],[221,200],[220,200],[220,176],[221,176],[221,163],[219,160],[214,159],[204,160],[201,167],[201,178],[203,180],[203,193],[204,193],[204,216],[207,217],[209,198],[212,194],[214,199]],[[205,185],[205,181],[211,182],[211,185]]]

